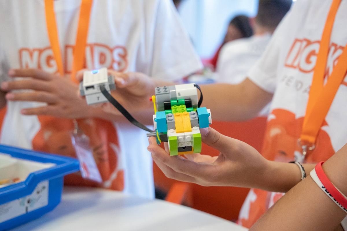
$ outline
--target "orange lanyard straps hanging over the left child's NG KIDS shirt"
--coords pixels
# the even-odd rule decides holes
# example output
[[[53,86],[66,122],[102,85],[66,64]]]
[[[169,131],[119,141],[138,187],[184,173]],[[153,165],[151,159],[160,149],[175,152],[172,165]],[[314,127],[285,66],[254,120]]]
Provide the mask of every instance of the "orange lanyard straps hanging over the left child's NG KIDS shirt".
[[[78,83],[75,78],[76,72],[83,69],[85,47],[87,44],[90,12],[93,0],[82,0],[79,12],[76,43],[74,47],[74,59],[71,71],[71,81]],[[54,0],[45,0],[46,24],[48,37],[51,43],[54,58],[57,63],[58,72],[64,76],[64,67],[61,59],[60,44],[58,37],[58,29],[56,23],[56,15],[54,13]]]

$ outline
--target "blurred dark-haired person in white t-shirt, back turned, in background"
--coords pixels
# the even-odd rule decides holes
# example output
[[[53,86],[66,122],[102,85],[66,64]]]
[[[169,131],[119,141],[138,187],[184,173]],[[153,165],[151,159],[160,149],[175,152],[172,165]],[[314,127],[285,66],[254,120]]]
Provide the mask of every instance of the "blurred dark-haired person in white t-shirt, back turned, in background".
[[[251,19],[253,36],[230,39],[231,42],[225,39],[216,66],[218,82],[238,84],[246,78],[247,72],[264,52],[272,33],[290,9],[292,2],[292,0],[259,1],[257,16]]]

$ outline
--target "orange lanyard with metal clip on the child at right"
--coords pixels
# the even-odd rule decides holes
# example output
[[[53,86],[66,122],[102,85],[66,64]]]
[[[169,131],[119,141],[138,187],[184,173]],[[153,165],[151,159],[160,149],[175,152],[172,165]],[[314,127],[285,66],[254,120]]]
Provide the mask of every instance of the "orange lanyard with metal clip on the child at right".
[[[324,86],[324,74],[328,59],[331,31],[340,3],[341,0],[332,1],[322,34],[316,65],[314,67],[312,86],[306,107],[306,115],[299,139],[299,143],[302,145],[304,155],[306,154],[307,147],[309,150],[314,149],[318,132],[323,124],[325,116],[328,114],[330,105],[336,95],[336,92],[339,89],[341,82],[344,80],[347,72],[346,45],[338,59],[336,66],[329,76],[327,83]]]

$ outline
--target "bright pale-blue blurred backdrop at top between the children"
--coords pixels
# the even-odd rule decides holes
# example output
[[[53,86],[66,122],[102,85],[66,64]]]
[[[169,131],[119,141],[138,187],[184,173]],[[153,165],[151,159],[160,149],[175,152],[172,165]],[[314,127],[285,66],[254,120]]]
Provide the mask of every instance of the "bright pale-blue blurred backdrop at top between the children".
[[[182,0],[177,10],[202,60],[210,59],[226,35],[228,24],[237,15],[253,18],[258,0]]]

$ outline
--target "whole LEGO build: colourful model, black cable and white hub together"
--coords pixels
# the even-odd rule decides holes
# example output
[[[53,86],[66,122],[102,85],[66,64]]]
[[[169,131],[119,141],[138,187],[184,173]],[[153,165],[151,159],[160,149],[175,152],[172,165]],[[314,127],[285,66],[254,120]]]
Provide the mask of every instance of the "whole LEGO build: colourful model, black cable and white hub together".
[[[138,122],[110,94],[116,89],[115,81],[107,75],[107,69],[85,71],[79,85],[87,104],[109,101],[135,126],[148,131],[147,137],[156,136],[157,143],[168,142],[170,156],[201,152],[200,128],[212,123],[211,111],[200,107],[202,92],[195,83],[155,88],[155,95],[150,98],[154,103],[153,123],[155,131]],[[200,99],[197,97],[200,91]]]

